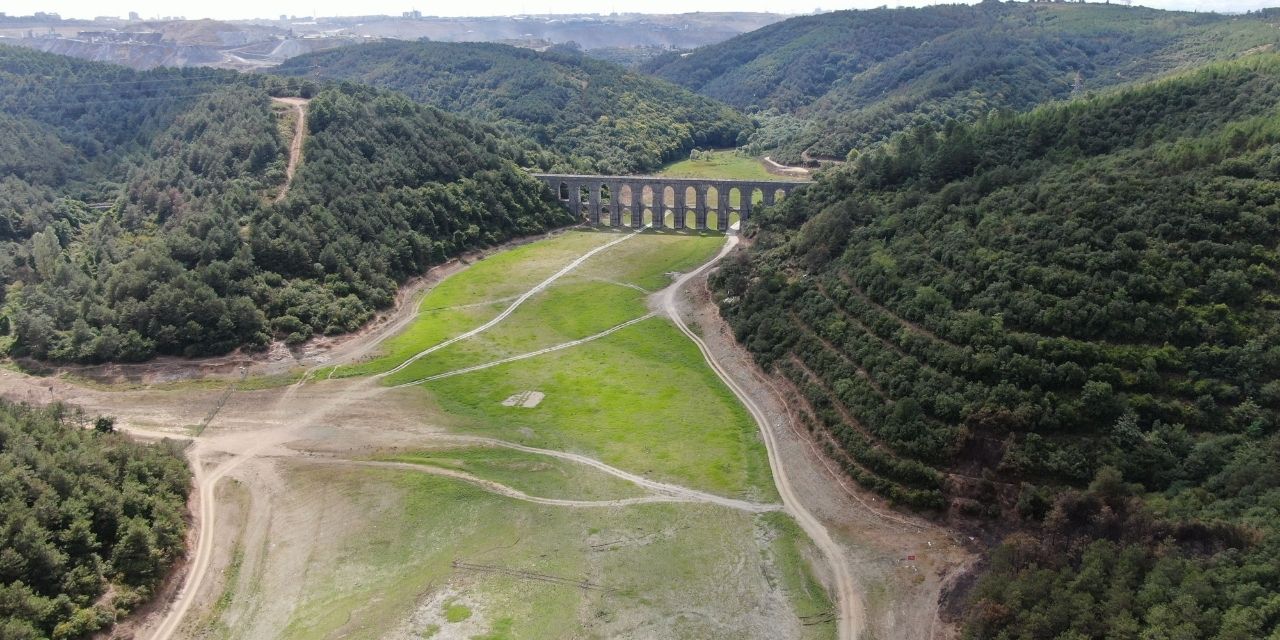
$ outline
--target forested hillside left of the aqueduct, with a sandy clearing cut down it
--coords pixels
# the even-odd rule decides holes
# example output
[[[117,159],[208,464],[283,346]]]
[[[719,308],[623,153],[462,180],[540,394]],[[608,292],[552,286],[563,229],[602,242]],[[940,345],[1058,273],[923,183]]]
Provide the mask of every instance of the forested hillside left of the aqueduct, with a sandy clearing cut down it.
[[[287,198],[270,93],[314,96]],[[393,93],[0,47],[10,352],[223,353],[356,329],[461,251],[572,220],[527,145]]]

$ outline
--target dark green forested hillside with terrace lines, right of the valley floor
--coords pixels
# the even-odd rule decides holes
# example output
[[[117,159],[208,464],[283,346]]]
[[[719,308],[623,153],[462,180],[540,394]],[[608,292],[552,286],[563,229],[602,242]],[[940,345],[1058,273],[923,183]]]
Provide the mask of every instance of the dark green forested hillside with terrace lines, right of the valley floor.
[[[1009,531],[972,639],[1280,637],[1280,56],[909,131],[714,278],[849,475]]]

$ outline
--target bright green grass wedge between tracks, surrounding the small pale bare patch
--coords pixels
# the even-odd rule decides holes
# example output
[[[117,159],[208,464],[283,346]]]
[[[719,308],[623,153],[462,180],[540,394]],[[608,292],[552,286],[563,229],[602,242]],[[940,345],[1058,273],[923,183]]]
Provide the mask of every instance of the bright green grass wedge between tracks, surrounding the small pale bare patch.
[[[430,412],[454,431],[582,453],[724,495],[776,499],[755,422],[663,319],[422,387]],[[522,390],[547,397],[535,408],[502,404]]]

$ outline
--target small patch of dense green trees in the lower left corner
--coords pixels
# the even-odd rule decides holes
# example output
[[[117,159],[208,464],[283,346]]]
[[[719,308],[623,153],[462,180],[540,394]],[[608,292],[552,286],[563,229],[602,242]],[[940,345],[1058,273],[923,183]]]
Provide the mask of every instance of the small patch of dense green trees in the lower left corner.
[[[0,637],[108,627],[182,554],[186,462],[111,426],[0,401]]]

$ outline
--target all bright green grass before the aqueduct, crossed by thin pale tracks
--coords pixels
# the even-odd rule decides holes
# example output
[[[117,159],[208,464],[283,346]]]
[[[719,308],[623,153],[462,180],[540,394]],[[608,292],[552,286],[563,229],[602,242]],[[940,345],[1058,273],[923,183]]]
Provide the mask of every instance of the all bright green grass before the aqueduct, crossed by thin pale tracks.
[[[545,248],[567,264],[573,256],[563,255],[563,246],[579,251],[590,247],[575,236],[617,237],[572,232],[520,251],[522,257],[547,265],[550,259],[540,253]],[[718,237],[635,236],[591,257],[498,325],[417,360],[385,383],[410,383],[527,353],[641,317],[648,312],[648,292],[666,287],[668,274],[705,262],[721,242]],[[494,270],[512,268],[497,259],[474,265],[442,283],[422,305],[445,306],[433,302],[438,292],[448,303],[458,301],[454,292],[479,291],[466,282],[470,278],[493,282]],[[556,269],[548,265],[544,270]],[[461,300],[490,298],[472,293]],[[483,323],[475,317],[470,324],[451,325],[448,333],[420,326],[434,317],[428,315],[408,329],[407,334],[421,342],[397,340],[393,355],[380,358],[378,367],[390,369],[397,357]],[[755,422],[705,366],[696,347],[664,319],[421,387],[433,420],[457,431],[590,454],[620,468],[698,489],[776,499]],[[534,408],[502,404],[525,390],[545,393],[547,398]]]

